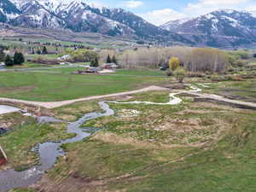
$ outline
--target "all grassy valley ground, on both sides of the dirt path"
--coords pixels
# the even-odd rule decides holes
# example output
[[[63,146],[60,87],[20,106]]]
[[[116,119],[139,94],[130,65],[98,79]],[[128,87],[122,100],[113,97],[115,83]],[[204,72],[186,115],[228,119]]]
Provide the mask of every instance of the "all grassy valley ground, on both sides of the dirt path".
[[[60,75],[46,75],[44,79],[41,73],[32,73],[34,81],[26,73],[3,74],[1,78],[9,78],[9,81],[0,81],[0,89],[14,89],[1,91],[0,96],[60,101],[134,90],[149,84],[176,86],[172,79],[150,71],[133,72],[134,76],[125,76],[125,71],[108,76],[75,76],[67,72],[67,69],[61,69]],[[12,81],[11,77],[20,81]],[[96,79],[94,82],[92,77]],[[50,83],[53,80],[56,80],[55,84]],[[196,86],[205,82],[202,79],[186,81]],[[33,89],[24,89],[32,85]],[[15,91],[18,87],[20,90]],[[95,87],[98,89],[92,89]],[[244,102],[255,103],[256,100],[255,79],[226,81],[201,88],[204,93]],[[55,92],[51,93],[49,90],[53,89]],[[152,90],[109,100],[168,102],[169,93],[169,90]],[[115,112],[113,116],[82,125],[100,131],[82,142],[65,144],[63,148],[67,154],[59,158],[38,183],[11,192],[255,191],[255,110],[198,100],[194,96],[181,97],[183,102],[178,105],[109,103]],[[102,99],[41,109],[42,115],[63,119],[62,123],[38,126],[34,119],[20,113],[0,115],[0,127],[4,125],[12,130],[0,137],[0,143],[9,155],[9,163],[1,169],[14,167],[21,171],[36,165],[38,157],[30,152],[31,148],[36,143],[73,137],[65,131],[67,122],[79,119],[84,113],[101,112],[97,104],[100,101]],[[37,110],[22,104],[17,107]]]

